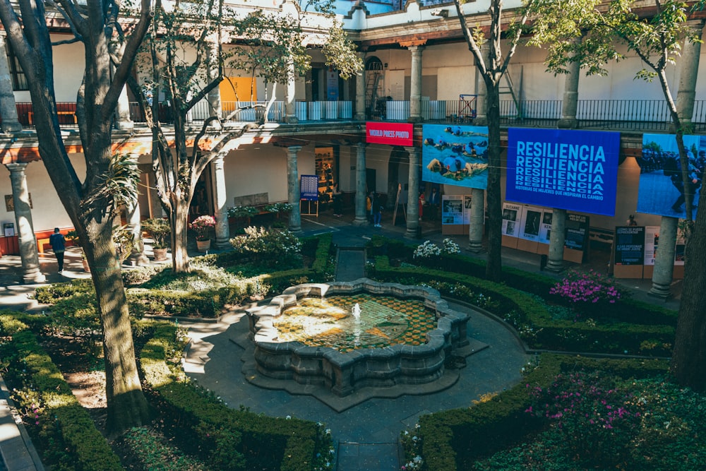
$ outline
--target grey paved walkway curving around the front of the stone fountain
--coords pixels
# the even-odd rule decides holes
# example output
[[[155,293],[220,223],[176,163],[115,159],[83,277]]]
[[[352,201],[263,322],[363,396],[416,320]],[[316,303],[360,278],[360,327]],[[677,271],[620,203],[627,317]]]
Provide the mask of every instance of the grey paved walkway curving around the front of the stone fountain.
[[[465,368],[457,370],[457,381],[437,392],[419,394],[419,386],[408,386],[409,394],[372,397],[336,412],[306,392],[297,395],[254,386],[241,371],[244,349],[239,344],[249,330],[244,309],[232,311],[217,323],[190,324],[193,342],[184,369],[230,407],[243,405],[251,412],[325,423],[338,444],[340,471],[399,470],[400,432],[414,427],[421,415],[469,407],[481,395],[510,388],[520,381],[521,369],[529,361],[520,342],[502,323],[462,304],[449,302],[449,306],[469,313],[469,338],[488,347],[468,357]]]

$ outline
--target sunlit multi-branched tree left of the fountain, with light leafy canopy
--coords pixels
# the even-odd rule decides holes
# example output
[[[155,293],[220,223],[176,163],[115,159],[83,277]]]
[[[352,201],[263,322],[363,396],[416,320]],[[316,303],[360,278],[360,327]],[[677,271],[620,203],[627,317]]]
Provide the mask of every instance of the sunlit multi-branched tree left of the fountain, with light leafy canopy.
[[[313,2],[309,5],[333,22],[330,4]],[[230,11],[222,0],[204,3],[177,1],[172,10],[160,8],[155,15],[154,28],[144,43],[149,59],[146,64],[140,62],[138,66],[152,78],[148,85],[152,97],[155,97],[151,108],[144,87],[135,79],[130,82],[155,136],[152,168],[155,169],[162,207],[172,227],[175,272],[189,270],[186,222],[199,177],[217,156],[228,153],[235,138],[254,126],[234,126],[229,122],[245,108],[235,109],[223,118],[212,112],[201,129],[192,135],[186,126],[189,113],[220,85],[225,68],[245,70],[253,78],[264,78],[274,90],[276,83],[294,81],[295,72],[304,72],[310,66],[311,59],[306,53],[308,39],[301,25],[305,12],[289,8],[289,13],[265,13],[259,9],[245,15],[241,13]],[[334,32],[336,28],[340,29],[340,25],[334,26]],[[226,37],[235,44],[224,47]],[[352,49],[352,43],[340,34],[332,35],[332,39],[325,52],[340,56],[329,56],[328,63],[340,68],[345,77],[360,70],[360,59],[354,56],[357,60],[351,61],[350,54],[345,54]],[[157,97],[162,90],[172,106],[174,149],[165,138],[156,113]],[[274,100],[273,91],[263,121]],[[249,107],[261,108],[262,105]]]

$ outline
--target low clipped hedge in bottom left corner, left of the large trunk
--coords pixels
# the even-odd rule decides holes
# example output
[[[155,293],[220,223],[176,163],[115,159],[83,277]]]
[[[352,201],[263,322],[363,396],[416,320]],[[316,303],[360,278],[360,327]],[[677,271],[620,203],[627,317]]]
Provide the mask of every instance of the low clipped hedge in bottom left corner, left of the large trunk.
[[[58,460],[61,469],[122,470],[120,459],[78,403],[61,371],[19,320],[24,316],[10,311],[0,315],[1,335],[9,338],[1,356],[11,363],[8,372],[18,371],[13,380],[23,382],[21,390],[16,390],[16,398],[26,400],[20,407],[42,410],[35,438],[46,445],[45,453]]]

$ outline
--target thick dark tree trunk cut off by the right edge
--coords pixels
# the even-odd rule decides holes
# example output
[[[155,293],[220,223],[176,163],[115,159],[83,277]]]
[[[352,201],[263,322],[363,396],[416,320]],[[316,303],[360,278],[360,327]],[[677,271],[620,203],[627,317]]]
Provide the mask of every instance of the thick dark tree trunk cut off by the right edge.
[[[671,374],[698,392],[706,391],[706,210],[698,210],[686,242],[684,285],[676,323]]]

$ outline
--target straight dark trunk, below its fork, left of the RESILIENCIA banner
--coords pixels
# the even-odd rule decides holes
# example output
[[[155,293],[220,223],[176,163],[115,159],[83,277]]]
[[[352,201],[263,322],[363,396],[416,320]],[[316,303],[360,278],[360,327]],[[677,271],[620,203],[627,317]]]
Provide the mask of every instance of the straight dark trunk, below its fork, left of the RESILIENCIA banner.
[[[500,281],[502,278],[503,210],[500,188],[501,153],[500,144],[500,90],[497,84],[486,80],[488,94],[488,262],[486,278]]]

